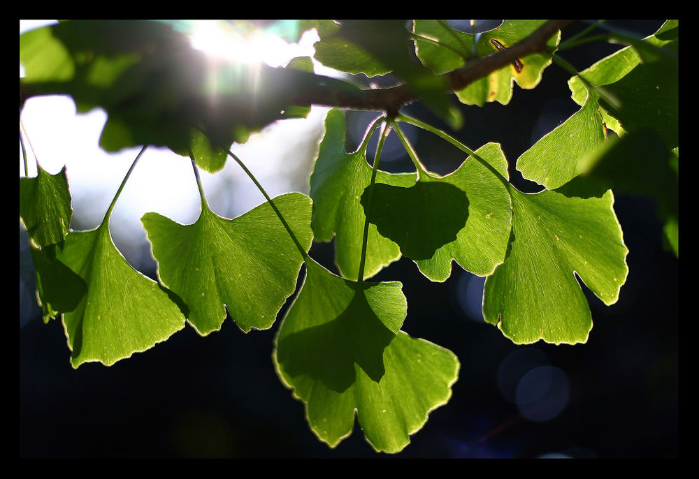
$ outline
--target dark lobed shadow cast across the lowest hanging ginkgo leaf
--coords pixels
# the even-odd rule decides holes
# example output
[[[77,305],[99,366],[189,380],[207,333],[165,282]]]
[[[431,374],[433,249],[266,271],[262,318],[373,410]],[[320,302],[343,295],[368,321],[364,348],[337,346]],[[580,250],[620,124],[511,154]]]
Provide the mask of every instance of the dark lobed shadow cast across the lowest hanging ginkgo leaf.
[[[356,380],[354,363],[373,381],[384,375],[383,353],[396,334],[377,318],[363,289],[366,283],[347,285],[356,290],[337,318],[280,339],[277,358],[290,376],[305,374],[343,392]]]

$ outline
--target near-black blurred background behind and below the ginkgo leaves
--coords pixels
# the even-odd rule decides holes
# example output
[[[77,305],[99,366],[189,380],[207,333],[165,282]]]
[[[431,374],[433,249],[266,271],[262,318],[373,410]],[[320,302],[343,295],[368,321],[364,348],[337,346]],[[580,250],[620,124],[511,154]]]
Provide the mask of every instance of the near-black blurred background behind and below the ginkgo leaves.
[[[611,23],[647,36],[662,21]],[[565,36],[577,28],[570,34],[566,29]],[[582,70],[617,48],[595,45],[563,57]],[[568,78],[549,66],[537,88],[515,86],[510,105],[463,105],[466,121],[457,136],[473,149],[500,142],[512,182],[538,191],[521,179],[514,161],[579,108],[570,99]],[[421,105],[405,112],[442,126]],[[348,116],[348,130],[364,125],[360,113]],[[429,169],[445,174],[463,161],[446,142],[414,134]],[[348,136],[349,151],[358,139]],[[381,168],[412,170],[412,165],[403,155]],[[75,370],[61,323],[44,325],[37,316],[19,329],[20,457],[677,457],[679,262],[662,247],[651,200],[617,196],[614,209],[630,250],[628,279],[610,307],[586,291],[594,327],[584,345],[515,346],[463,309],[459,297],[473,278],[457,265],[445,283],[428,281],[406,258],[375,277],[403,283],[408,298],[403,330],[449,348],[461,362],[452,399],[431,413],[397,455],[373,452],[358,425],[334,450],[317,440],[303,403],[280,383],[271,362],[279,321],[271,330],[246,335],[226,319],[221,331],[206,338],[185,327],[112,367],[86,363]],[[332,244],[314,244],[310,256],[335,271]],[[20,282],[29,288],[32,271],[20,228]],[[154,263],[143,272],[154,278]],[[551,419],[531,420],[512,394],[527,371],[542,365],[563,376],[554,383],[568,399]],[[554,389],[549,388],[551,400]],[[544,400],[546,388],[542,391]]]

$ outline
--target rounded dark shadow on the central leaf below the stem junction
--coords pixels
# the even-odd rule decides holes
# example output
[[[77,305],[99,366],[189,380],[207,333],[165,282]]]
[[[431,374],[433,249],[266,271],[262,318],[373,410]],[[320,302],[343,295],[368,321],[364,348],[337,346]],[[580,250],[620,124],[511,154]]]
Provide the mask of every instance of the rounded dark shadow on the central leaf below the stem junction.
[[[413,260],[432,258],[466,225],[468,198],[452,184],[419,181],[410,188],[388,184],[373,188],[370,207],[369,189],[361,196],[364,213],[382,236],[396,242],[403,256]]]

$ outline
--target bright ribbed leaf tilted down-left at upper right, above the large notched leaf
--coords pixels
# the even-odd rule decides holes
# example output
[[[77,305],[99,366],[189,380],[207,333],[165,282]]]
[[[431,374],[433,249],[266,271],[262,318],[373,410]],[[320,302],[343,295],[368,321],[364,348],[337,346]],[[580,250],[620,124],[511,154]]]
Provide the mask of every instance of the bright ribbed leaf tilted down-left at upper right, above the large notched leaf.
[[[603,119],[596,94],[580,110],[547,133],[517,159],[526,179],[556,189],[584,172],[582,159],[605,142]]]

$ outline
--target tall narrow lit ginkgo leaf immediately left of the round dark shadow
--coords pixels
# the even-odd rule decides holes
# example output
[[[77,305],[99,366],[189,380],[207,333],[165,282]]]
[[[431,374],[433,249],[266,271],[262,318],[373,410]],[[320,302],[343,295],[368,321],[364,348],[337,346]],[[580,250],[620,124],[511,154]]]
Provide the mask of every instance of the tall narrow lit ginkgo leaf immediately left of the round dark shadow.
[[[391,174],[378,171],[377,184],[412,186],[415,173]],[[345,152],[345,116],[331,110],[325,120],[325,135],[310,177],[313,200],[311,226],[317,241],[335,237],[335,263],[345,278],[356,279],[364,228],[361,195],[371,180],[371,167],[366,163],[366,148]],[[364,279],[401,257],[398,245],[377,233],[369,225]]]

